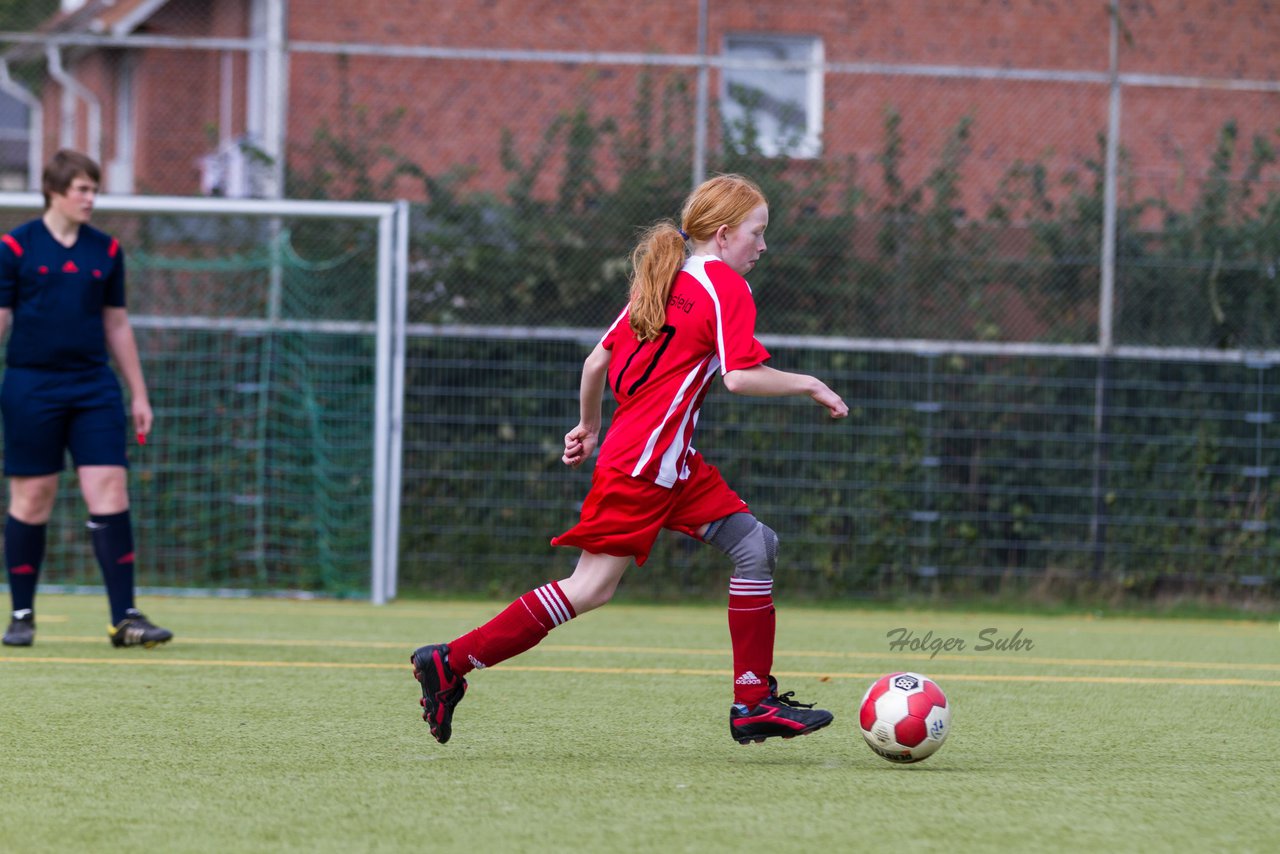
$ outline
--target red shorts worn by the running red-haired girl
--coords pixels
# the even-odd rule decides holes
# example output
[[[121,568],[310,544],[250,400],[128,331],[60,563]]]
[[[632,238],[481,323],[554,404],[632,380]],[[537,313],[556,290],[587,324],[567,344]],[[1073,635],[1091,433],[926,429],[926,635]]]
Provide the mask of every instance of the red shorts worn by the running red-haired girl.
[[[593,554],[634,556],[636,566],[644,566],[663,528],[696,538],[698,529],[708,522],[750,512],[719,470],[703,462],[701,455],[690,455],[687,463],[689,478],[671,489],[598,466],[580,521],[552,538],[552,545],[575,545]]]

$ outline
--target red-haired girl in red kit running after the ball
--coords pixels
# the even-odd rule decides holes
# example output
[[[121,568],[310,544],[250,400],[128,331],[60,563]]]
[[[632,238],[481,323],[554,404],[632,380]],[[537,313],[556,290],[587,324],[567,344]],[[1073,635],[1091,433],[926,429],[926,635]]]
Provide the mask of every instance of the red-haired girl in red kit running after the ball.
[[[608,383],[617,408],[581,519],[553,545],[582,549],[573,574],[520,597],[485,625],[410,658],[422,686],[422,718],[444,744],[466,673],[531,649],[573,617],[608,602],[634,560],[643,566],[667,528],[733,561],[728,626],[733,648],[730,735],[741,744],[820,730],[829,712],[778,694],[773,667],[773,570],[778,538],[692,448],[698,412],[721,375],[735,394],[806,394],[835,419],[849,407],[820,380],[764,365],[755,302],[744,278],[765,250],[769,207],[741,175],[719,175],[685,201],[681,225],[649,228],[631,254],[631,298],[586,357],[580,421],[563,462],[595,452]]]

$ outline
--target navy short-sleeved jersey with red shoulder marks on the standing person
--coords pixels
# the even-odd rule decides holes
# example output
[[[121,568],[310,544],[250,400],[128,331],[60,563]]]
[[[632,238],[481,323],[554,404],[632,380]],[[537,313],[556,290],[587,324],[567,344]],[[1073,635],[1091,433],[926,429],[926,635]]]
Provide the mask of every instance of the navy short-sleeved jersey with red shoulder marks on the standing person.
[[[124,251],[110,234],[81,225],[67,247],[35,219],[0,237],[0,307],[13,310],[10,367],[106,365],[108,306],[124,307]]]

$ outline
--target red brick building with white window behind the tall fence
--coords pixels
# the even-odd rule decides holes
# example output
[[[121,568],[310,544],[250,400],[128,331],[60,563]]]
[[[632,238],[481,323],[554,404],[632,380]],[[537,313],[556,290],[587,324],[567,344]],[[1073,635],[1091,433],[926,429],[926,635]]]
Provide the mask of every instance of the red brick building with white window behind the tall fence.
[[[1112,47],[1123,175],[1139,191],[1190,192],[1228,122],[1277,142],[1280,6],[1116,9],[1112,26],[1108,4],[1083,0],[87,0],[44,29],[63,40],[60,69],[38,44],[8,56],[49,69],[44,150],[93,151],[118,192],[273,192],[243,177],[246,150],[283,152],[294,192],[325,173],[325,192],[355,192],[342,152],[375,179],[412,163],[500,191],[503,140],[522,163],[545,152],[553,174],[564,138],[547,142],[549,129],[579,109],[604,134],[605,177],[625,151],[614,141],[641,131],[680,141],[696,174],[749,115],[765,154],[874,184],[895,114],[909,184],[968,123],[972,206],[1015,164],[1061,174],[1101,157]]]

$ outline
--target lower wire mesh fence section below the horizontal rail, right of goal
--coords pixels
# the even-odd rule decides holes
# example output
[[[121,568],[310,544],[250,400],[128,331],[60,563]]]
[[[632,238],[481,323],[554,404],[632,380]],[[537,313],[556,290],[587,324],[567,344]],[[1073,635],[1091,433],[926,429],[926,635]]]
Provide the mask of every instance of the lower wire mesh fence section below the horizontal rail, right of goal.
[[[780,533],[792,592],[1275,584],[1275,361],[765,343],[778,367],[840,389],[850,421],[717,392],[696,444]],[[572,568],[576,553],[547,542],[589,485],[559,463],[589,347],[411,330],[402,588],[518,593]],[[628,584],[716,594],[721,563],[660,538]]]

